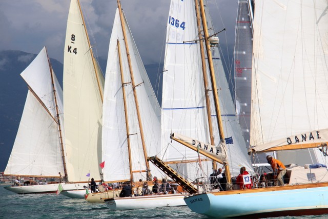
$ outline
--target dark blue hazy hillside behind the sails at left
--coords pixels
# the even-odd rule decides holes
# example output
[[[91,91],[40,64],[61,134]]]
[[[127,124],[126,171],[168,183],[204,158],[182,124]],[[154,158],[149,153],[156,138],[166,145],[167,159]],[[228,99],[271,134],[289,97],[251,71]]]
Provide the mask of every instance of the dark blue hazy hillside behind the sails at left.
[[[0,171],[4,171],[12,146],[15,141],[20,117],[22,116],[25,98],[27,95],[27,86],[20,73],[31,63],[36,54],[30,54],[22,51],[0,51]],[[63,84],[63,64],[56,59],[50,59],[52,67],[58,78]],[[106,59],[99,58],[99,65],[105,74]],[[145,66],[149,74],[150,81],[155,88],[158,96],[159,71],[162,71],[162,65]],[[160,82],[161,84],[161,82]],[[161,86],[160,89],[161,91]],[[159,99],[161,103],[161,98]]]

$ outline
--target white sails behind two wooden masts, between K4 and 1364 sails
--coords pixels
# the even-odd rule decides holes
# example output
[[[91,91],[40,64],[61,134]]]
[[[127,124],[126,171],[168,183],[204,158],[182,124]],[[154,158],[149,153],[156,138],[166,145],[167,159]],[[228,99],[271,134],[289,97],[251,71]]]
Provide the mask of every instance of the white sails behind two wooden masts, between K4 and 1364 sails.
[[[146,151],[149,156],[160,152],[160,107],[123,14],[127,35],[127,38],[124,39],[118,10],[116,10],[110,38],[104,93],[104,180],[125,181],[131,178],[134,181],[146,180],[146,160],[142,149],[125,41],[128,42],[130,51],[134,82],[137,85],[135,91],[140,120],[144,131]],[[117,40],[119,41],[120,51],[118,51]],[[118,52],[121,55],[121,63],[119,63]],[[120,71],[120,65],[122,72]],[[123,74],[124,82],[122,82],[121,74]],[[122,83],[124,83],[126,94],[126,109],[124,107]],[[127,113],[127,118],[125,113]],[[131,157],[129,157],[128,151],[126,120],[129,124]],[[132,177],[130,175],[130,161],[133,172]],[[158,176],[159,171],[154,166],[150,169],[153,175]]]

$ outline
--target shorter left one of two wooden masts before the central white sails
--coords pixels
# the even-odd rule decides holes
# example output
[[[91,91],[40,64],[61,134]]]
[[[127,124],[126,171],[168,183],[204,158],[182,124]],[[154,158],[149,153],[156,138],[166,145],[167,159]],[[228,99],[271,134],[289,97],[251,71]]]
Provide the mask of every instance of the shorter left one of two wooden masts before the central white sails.
[[[125,93],[125,86],[124,83],[124,75],[123,75],[123,68],[122,68],[122,59],[120,53],[120,45],[117,39],[117,53],[118,53],[118,63],[119,63],[119,71],[121,75],[121,82],[122,82],[122,92],[123,92],[123,102],[124,102],[124,113],[125,113],[125,124],[127,129],[127,140],[128,140],[128,151],[129,151],[129,165],[130,165],[130,179],[131,183],[133,182],[133,172],[132,172],[132,162],[131,162],[131,145],[130,145],[130,132],[129,132],[129,120],[128,120],[128,111],[127,111],[127,96]]]

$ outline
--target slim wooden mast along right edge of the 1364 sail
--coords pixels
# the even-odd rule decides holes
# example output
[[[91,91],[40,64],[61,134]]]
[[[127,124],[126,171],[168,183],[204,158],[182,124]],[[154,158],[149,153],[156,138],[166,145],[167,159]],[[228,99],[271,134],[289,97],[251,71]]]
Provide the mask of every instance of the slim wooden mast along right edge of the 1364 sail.
[[[208,89],[208,80],[206,74],[206,61],[205,61],[205,54],[204,54],[204,45],[203,45],[203,37],[202,37],[202,30],[200,25],[200,15],[199,15],[199,5],[198,1],[195,0],[195,10],[197,16],[197,28],[198,28],[198,38],[199,38],[199,46],[200,46],[200,55],[201,55],[201,66],[202,66],[202,73],[203,73],[203,81],[204,81],[204,92],[206,98],[206,109],[207,109],[207,119],[209,123],[209,131],[210,131],[210,140],[211,145],[215,145],[214,142],[214,134],[213,134],[213,124],[211,118],[211,105],[210,105],[210,96],[209,96],[209,89]],[[213,160],[213,170],[216,170],[217,165]]]

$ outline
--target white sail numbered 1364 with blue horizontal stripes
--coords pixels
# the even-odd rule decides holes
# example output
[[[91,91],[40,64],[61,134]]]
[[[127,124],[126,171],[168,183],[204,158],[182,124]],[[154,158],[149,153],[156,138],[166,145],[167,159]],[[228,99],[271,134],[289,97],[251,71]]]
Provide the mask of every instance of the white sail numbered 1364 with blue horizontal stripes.
[[[198,161],[198,154],[172,142],[170,134],[178,133],[196,138],[200,142],[210,142],[197,39],[194,3],[171,1],[167,20],[161,105],[161,141],[162,147],[167,148],[163,160],[176,162],[172,167],[179,166],[175,169],[191,178],[197,177],[195,173],[199,166],[196,163],[183,162]],[[208,163],[209,172],[212,172],[211,162]]]

